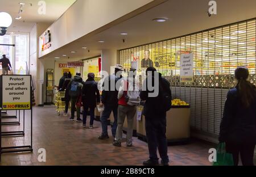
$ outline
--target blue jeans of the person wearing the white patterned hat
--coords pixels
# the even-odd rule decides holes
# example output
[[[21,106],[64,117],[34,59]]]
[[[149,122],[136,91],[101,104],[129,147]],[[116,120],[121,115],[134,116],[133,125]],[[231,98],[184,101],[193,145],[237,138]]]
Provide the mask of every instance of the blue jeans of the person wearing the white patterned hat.
[[[102,116],[101,116],[101,126],[102,126],[102,135],[103,136],[108,136],[108,119],[109,116],[111,114],[111,112],[113,111],[113,115],[114,115],[114,123],[113,123],[113,127],[112,127],[112,135],[113,137],[115,137],[115,132],[117,131],[117,109],[118,109],[118,105],[116,106],[110,106],[110,105],[104,105],[104,111],[102,112]]]

